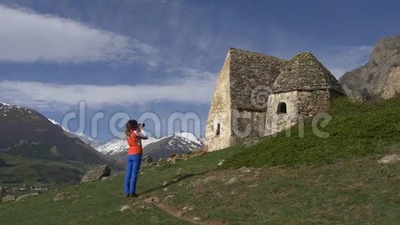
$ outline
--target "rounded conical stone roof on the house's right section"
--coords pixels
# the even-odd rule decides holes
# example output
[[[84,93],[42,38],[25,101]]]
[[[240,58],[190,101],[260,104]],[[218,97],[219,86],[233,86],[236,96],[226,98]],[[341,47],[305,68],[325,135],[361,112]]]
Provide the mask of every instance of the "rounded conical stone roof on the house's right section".
[[[288,61],[272,86],[274,93],[326,89],[345,95],[339,81],[310,52],[300,52]]]

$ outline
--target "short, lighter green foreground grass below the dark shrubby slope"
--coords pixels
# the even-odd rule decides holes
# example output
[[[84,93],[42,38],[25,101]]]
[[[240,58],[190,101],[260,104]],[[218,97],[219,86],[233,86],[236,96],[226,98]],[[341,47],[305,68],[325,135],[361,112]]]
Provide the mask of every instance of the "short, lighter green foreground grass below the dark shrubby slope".
[[[398,149],[394,146],[392,152],[400,153]],[[115,177],[63,188],[58,192],[78,197],[62,202],[53,202],[56,193],[47,193],[0,205],[0,217],[6,224],[149,224],[149,219],[150,224],[187,224],[144,202],[146,197],[157,196],[176,211],[193,207],[183,214],[189,218],[231,224],[400,222],[400,162],[377,164],[381,157],[377,155],[325,166],[264,166],[250,173],[215,170],[221,159],[238,151],[225,149],[176,164],[144,168],[138,183],[141,199],[121,197],[123,177]],[[226,185],[232,177],[238,177],[238,182]],[[179,181],[171,182],[173,179]],[[162,186],[164,182],[168,183],[166,187]],[[132,212],[119,212],[126,204],[132,206]]]

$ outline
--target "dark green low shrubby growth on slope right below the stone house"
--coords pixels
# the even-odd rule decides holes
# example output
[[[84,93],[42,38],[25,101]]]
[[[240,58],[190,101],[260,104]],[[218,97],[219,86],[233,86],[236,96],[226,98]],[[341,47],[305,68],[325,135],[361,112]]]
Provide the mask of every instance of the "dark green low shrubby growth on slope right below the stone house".
[[[368,104],[337,99],[328,112],[332,121],[325,128],[319,126],[319,130],[329,133],[328,138],[314,135],[312,122],[306,121],[303,138],[299,137],[299,126],[294,126],[290,137],[285,132],[265,137],[229,157],[223,168],[323,165],[382,153],[400,142],[399,112],[400,97]]]

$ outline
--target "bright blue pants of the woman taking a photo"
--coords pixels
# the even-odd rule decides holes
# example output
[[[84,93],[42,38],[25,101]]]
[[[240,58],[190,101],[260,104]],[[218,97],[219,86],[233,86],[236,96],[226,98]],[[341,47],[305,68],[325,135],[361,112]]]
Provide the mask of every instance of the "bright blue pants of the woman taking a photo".
[[[126,161],[125,193],[136,193],[137,175],[141,164],[141,155],[128,155]]]

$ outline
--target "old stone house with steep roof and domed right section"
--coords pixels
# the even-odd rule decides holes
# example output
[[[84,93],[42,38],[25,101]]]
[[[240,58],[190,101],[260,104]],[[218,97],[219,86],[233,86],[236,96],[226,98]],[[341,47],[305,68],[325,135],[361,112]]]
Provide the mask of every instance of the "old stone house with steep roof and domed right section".
[[[337,79],[310,52],[290,61],[230,48],[217,79],[204,150],[272,135],[324,113],[345,97]]]

